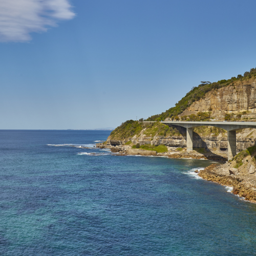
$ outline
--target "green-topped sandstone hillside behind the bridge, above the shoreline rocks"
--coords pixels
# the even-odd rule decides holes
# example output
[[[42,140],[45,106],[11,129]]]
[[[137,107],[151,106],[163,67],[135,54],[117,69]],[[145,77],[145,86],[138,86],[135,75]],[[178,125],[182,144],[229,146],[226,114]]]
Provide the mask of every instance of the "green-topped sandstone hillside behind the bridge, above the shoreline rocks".
[[[147,120],[250,120],[256,121],[256,69],[229,80],[204,82],[194,87],[174,108],[154,115]],[[110,134],[108,144],[126,144],[152,150],[164,145],[167,150],[186,147],[186,130],[180,126],[169,127],[161,122],[143,123],[129,120]],[[227,133],[217,127],[200,126],[193,129],[195,150],[226,154]],[[237,131],[237,150],[255,145],[256,130]],[[145,147],[147,145],[148,148]],[[151,146],[149,146],[151,145]]]

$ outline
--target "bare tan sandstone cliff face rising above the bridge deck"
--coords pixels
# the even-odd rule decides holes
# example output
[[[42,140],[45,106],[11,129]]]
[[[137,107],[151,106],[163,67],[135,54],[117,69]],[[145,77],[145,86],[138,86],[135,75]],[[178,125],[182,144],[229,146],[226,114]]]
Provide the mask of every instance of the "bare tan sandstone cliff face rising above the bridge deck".
[[[244,113],[243,118],[256,119],[256,79],[235,81],[227,87],[210,91],[204,99],[192,103],[180,116],[211,112],[211,117],[223,120],[225,114]]]

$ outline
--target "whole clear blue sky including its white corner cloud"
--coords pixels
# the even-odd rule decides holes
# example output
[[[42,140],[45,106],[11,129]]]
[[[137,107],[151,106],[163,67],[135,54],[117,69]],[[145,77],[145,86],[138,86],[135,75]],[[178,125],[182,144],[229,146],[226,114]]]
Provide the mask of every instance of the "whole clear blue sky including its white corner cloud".
[[[99,129],[256,67],[256,1],[0,0],[0,129]]]

